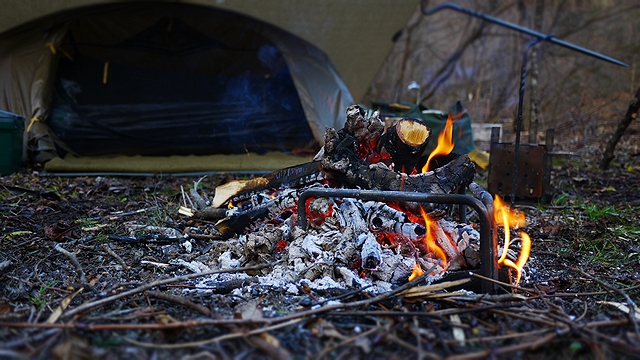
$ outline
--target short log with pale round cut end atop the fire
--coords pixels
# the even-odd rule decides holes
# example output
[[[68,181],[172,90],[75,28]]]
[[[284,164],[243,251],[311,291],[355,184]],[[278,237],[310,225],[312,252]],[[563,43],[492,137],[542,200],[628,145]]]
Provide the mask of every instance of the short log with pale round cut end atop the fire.
[[[429,143],[431,129],[416,119],[402,119],[389,127],[378,143],[393,160],[394,169],[411,174]]]

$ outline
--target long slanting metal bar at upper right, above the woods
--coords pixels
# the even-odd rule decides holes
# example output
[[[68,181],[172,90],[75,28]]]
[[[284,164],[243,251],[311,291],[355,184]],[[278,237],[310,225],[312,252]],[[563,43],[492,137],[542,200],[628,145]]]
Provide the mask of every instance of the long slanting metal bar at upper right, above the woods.
[[[490,23],[494,23],[496,25],[500,25],[500,26],[506,27],[508,29],[518,31],[518,32],[523,33],[523,34],[527,34],[527,35],[536,37],[538,40],[541,40],[541,41],[543,41],[543,40],[544,41],[548,41],[550,43],[553,43],[553,44],[556,44],[556,45],[560,45],[562,47],[565,47],[567,49],[571,49],[571,50],[583,53],[585,55],[593,56],[595,58],[610,62],[612,64],[616,64],[616,65],[620,65],[620,66],[624,66],[624,67],[629,67],[629,65],[627,63],[624,63],[624,62],[622,62],[620,60],[616,60],[616,59],[614,59],[612,57],[609,57],[609,56],[606,56],[606,55],[602,55],[602,54],[597,53],[595,51],[583,48],[581,46],[574,45],[572,43],[560,40],[560,39],[556,38],[553,34],[543,34],[543,33],[540,33],[540,32],[537,32],[537,31],[534,31],[534,30],[531,30],[531,29],[528,29],[528,28],[525,28],[525,27],[522,27],[522,26],[519,26],[519,25],[512,24],[510,22],[495,18],[493,16],[489,16],[489,15],[486,15],[486,14],[483,14],[483,13],[480,13],[480,12],[477,12],[477,11],[473,11],[473,10],[464,8],[464,7],[456,5],[456,4],[451,4],[451,3],[444,3],[442,5],[438,5],[438,6],[434,7],[433,9],[427,10],[427,9],[425,9],[426,2],[428,2],[428,1],[427,0],[423,0],[420,3],[420,6],[422,8],[422,13],[424,15],[431,15],[431,14],[434,14],[434,13],[436,13],[436,12],[438,12],[440,10],[444,10],[444,9],[455,10],[455,11],[461,12],[463,14],[467,14],[467,15],[470,15],[470,16],[473,16],[473,17],[480,18],[480,19],[482,19],[484,21],[488,21]]]

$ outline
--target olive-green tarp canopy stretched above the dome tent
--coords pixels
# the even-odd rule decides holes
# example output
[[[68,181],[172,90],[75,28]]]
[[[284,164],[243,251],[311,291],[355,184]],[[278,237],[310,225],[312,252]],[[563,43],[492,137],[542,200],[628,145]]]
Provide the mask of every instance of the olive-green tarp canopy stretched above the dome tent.
[[[235,11],[299,36],[331,58],[356,101],[363,98],[380,70],[392,48],[394,36],[411,16],[421,16],[419,0],[164,1]],[[98,3],[124,1],[3,0],[0,33],[50,14]]]

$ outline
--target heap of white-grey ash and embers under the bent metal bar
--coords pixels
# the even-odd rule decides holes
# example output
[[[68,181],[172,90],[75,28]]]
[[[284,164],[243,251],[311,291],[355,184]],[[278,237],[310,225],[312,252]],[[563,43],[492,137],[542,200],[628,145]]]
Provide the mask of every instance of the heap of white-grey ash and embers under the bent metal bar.
[[[234,290],[236,295],[256,287],[300,295],[298,286],[302,282],[314,290],[369,287],[367,292],[379,293],[408,281],[416,264],[432,271],[427,282],[447,270],[440,259],[426,251],[424,226],[411,223],[399,210],[354,199],[317,198],[307,205],[307,229],[297,226],[297,215],[293,214],[284,223],[266,224],[251,233],[213,243],[203,265],[232,269],[281,260],[271,268],[256,271],[258,282]],[[470,252],[470,257],[476,254],[468,249],[478,248],[478,232],[468,224],[443,219],[436,223],[434,235],[447,254],[448,269],[467,266],[465,252]],[[380,242],[385,233],[393,235],[391,244]],[[200,269],[194,262],[180,265],[192,271]],[[221,278],[201,281],[219,281],[215,279]]]

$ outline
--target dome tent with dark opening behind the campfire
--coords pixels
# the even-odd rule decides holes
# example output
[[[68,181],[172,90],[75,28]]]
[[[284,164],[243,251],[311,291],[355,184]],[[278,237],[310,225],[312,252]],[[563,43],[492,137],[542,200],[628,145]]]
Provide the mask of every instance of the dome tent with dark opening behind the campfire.
[[[29,153],[39,161],[66,152],[303,148],[341,127],[353,103],[310,42],[186,3],[105,3],[26,22],[0,34],[0,72],[0,109],[27,119]]]

